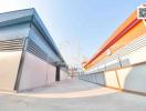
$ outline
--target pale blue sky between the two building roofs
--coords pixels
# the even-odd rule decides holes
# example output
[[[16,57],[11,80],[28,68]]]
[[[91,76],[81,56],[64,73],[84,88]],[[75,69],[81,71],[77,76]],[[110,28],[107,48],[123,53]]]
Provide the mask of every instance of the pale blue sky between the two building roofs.
[[[146,0],[0,0],[0,12],[35,8],[69,65],[80,65]]]

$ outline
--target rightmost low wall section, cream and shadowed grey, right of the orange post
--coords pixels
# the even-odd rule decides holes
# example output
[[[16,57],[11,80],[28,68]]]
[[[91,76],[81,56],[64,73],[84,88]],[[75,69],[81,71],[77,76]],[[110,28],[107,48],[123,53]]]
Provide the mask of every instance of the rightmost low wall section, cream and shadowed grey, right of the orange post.
[[[146,93],[146,64],[117,70],[122,89]]]

